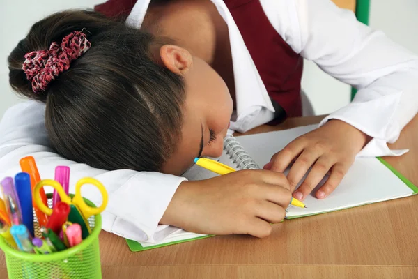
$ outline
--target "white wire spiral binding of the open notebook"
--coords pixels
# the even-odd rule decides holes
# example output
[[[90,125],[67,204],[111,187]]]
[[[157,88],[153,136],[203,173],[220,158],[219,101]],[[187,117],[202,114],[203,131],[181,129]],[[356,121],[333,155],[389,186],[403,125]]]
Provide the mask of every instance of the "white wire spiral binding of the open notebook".
[[[224,150],[229,155],[229,158],[233,159],[233,164],[236,164],[239,169],[260,169],[233,135],[226,135],[224,138]]]

